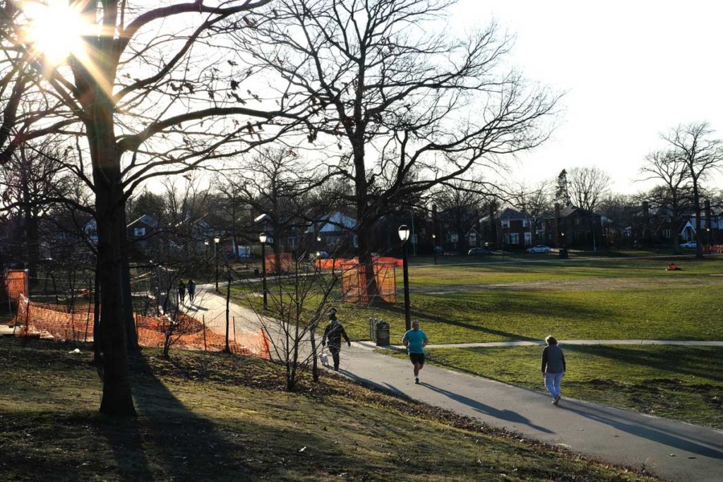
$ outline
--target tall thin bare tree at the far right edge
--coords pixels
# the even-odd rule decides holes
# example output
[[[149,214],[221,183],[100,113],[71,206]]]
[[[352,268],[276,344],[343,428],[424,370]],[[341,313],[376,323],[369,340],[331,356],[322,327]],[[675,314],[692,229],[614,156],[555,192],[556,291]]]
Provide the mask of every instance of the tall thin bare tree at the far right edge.
[[[696,258],[703,257],[701,233],[701,181],[723,164],[723,140],[714,139],[714,130],[707,122],[677,126],[662,138],[672,145],[674,155],[685,164],[693,188],[693,210],[696,211]]]

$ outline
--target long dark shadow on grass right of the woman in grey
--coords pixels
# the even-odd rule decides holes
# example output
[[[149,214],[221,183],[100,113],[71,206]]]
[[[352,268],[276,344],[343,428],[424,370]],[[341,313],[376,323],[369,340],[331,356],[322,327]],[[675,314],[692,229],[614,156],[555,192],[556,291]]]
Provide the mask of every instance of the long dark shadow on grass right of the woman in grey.
[[[678,381],[677,376],[681,374],[723,382],[722,372],[711,370],[711,360],[719,360],[723,356],[723,348],[646,345],[645,350],[640,350],[625,348],[623,345],[565,345],[565,350],[583,357],[599,356],[618,363],[665,371],[671,374],[674,382]]]

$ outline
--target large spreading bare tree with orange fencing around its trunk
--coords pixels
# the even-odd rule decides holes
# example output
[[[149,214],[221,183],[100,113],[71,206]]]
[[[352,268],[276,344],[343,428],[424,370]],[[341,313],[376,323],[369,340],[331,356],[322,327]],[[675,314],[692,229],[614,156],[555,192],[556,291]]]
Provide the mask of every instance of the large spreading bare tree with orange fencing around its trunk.
[[[354,184],[359,260],[374,279],[372,226],[390,208],[549,135],[557,98],[503,65],[512,46],[492,24],[457,40],[439,22],[451,0],[283,0],[239,44],[304,103],[328,176]],[[261,45],[261,46],[260,46]],[[474,176],[469,176],[474,178]],[[377,293],[370,283],[369,298]]]

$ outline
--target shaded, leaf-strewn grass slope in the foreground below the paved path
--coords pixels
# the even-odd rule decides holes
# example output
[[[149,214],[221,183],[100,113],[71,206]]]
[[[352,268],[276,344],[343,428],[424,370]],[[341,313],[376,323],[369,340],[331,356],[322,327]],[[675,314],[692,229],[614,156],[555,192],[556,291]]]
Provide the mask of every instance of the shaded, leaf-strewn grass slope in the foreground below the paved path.
[[[220,353],[144,350],[139,416],[111,420],[77,346],[0,339],[0,480],[654,480],[333,376],[284,392],[280,367]]]

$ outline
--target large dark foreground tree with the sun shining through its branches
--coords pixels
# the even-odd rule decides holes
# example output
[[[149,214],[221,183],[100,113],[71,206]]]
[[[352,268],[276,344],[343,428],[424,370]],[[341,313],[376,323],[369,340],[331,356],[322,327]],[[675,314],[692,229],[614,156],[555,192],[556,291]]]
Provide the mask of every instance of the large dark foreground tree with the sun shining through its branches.
[[[244,98],[237,90],[254,72],[241,67],[239,53],[225,40],[228,28],[243,28],[247,13],[270,0],[131,3],[80,3],[86,23],[69,33],[82,35],[85,48],[72,52],[68,65],[52,64],[25,37],[31,19],[14,2],[1,12],[0,163],[24,142],[48,134],[87,140],[90,165],[75,174],[95,192],[103,305],[100,411],[113,416],[135,413],[127,366],[127,197],[154,176],[184,173],[269,142],[284,127],[262,134],[261,124],[286,115],[275,106],[245,105],[258,96]],[[288,104],[284,109],[294,110]],[[299,107],[306,110],[306,104]]]

